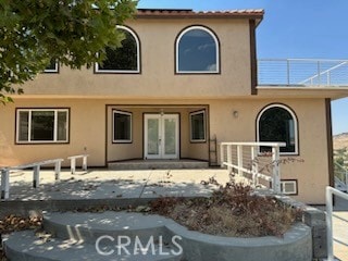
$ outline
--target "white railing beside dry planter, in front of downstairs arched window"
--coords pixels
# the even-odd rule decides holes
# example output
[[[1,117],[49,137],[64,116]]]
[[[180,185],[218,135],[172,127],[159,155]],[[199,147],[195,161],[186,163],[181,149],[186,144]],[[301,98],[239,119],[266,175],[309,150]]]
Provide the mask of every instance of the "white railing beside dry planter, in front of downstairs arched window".
[[[220,163],[229,173],[251,176],[253,186],[261,185],[260,179],[268,182],[279,194],[279,148],[285,146],[285,142],[221,142]],[[268,148],[269,152],[260,152],[260,148]]]

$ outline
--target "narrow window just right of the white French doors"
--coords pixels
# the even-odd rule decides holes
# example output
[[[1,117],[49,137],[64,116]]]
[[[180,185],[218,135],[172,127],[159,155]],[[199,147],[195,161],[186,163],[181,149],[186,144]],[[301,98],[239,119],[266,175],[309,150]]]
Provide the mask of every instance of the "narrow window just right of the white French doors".
[[[191,112],[189,114],[190,122],[190,141],[206,141],[206,111]]]

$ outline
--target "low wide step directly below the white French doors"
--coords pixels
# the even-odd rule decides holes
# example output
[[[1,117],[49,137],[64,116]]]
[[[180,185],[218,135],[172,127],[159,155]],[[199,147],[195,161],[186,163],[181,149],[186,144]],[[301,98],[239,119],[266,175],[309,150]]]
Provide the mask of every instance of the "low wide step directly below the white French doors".
[[[181,169],[208,169],[209,163],[197,160],[134,160],[109,162],[111,170],[181,170]]]

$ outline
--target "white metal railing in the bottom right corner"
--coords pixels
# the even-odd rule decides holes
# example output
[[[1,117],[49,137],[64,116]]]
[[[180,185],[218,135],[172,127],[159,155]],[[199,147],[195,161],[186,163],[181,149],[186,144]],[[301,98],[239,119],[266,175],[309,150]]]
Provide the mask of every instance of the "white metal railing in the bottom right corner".
[[[327,261],[334,261],[334,232],[333,232],[333,195],[348,200],[348,195],[333,187],[326,187],[326,228],[327,228]],[[339,216],[339,219],[343,219]],[[348,222],[347,220],[345,220]],[[348,249],[348,245],[346,245]]]

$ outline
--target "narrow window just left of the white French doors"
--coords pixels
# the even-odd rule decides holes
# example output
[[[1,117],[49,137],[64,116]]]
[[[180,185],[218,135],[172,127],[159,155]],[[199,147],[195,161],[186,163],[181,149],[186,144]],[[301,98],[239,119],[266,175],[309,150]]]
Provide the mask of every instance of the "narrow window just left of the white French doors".
[[[113,111],[113,142],[132,142],[132,113]]]

